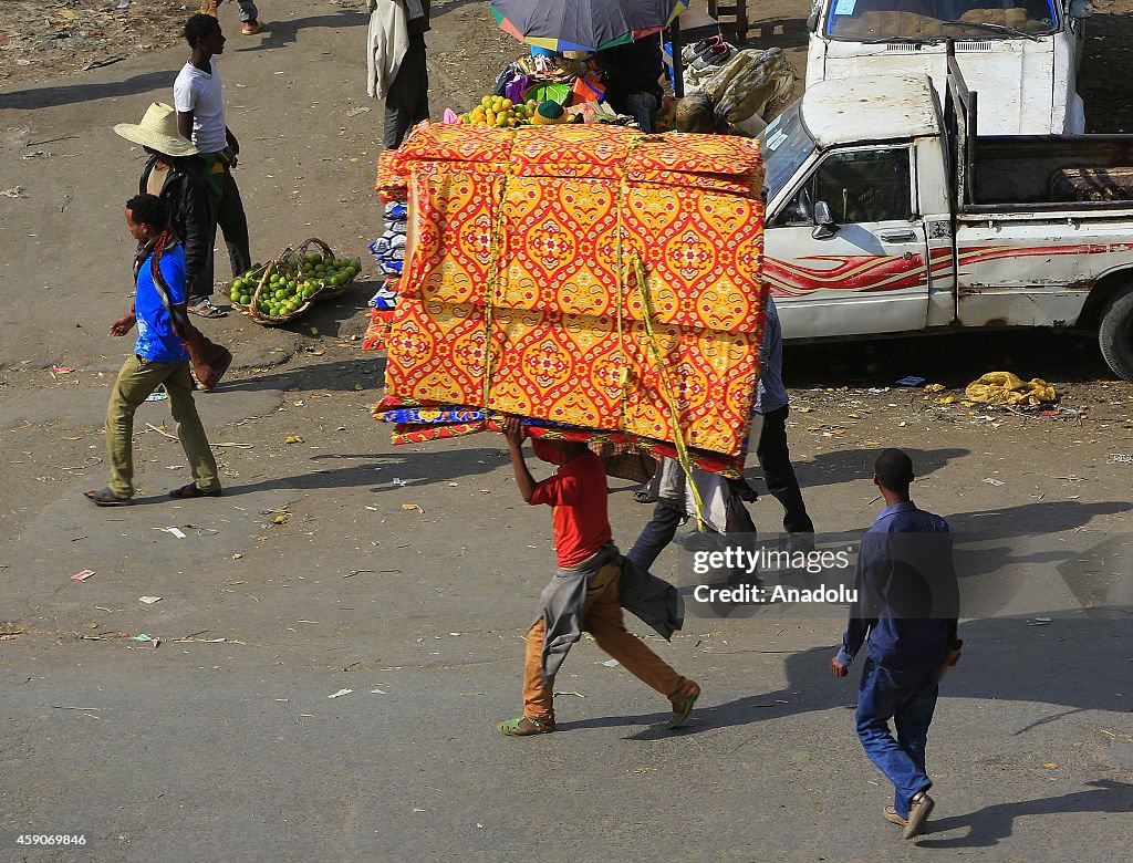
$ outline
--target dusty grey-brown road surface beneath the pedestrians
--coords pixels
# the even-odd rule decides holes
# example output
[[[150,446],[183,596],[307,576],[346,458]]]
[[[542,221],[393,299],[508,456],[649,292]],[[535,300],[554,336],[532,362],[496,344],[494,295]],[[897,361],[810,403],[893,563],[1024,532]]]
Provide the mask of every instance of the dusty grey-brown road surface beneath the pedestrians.
[[[274,36],[233,35],[224,59],[254,254],[310,233],[364,254],[381,131],[381,105],[359,96],[365,17],[281,6],[262,5]],[[468,103],[514,53],[483,12],[438,5],[435,109]],[[450,65],[461,52],[478,66]],[[130,348],[105,332],[128,304],[119,200],[139,168],[108,127],[165,97],[181,62],[174,49],[0,91],[0,188],[28,195],[0,198],[0,860],[1127,856],[1133,386],[1104,383],[1088,342],[787,351],[820,547],[852,544],[879,511],[883,444],[910,450],[915,499],[957,530],[965,651],[942,686],[937,808],[914,843],[881,819],[892,789],[853,733],[860,669],[829,673],[844,607],[722,617],[691,598],[676,548],[656,572],[685,595],[684,630],[666,644],[630,627],[704,687],[689,726],[665,730],[667,702],[583,641],[556,681],[560,732],[495,732],[520,709],[550,513],[519,499],[497,437],[394,447],[373,422],[382,359],[351,339],[370,281],[289,328],[204,323],[238,361],[197,400],[223,444],[223,497],[165,496],[187,475],[155,403],[136,425],[142,495],[91,506],[110,376]],[[65,135],[32,147],[51,157],[20,159]],[[893,385],[915,373],[954,390],[1000,367],[1046,376],[1073,410],[969,409]],[[612,490],[628,548],[649,511],[627,484]],[[778,505],[752,514],[769,538]],[[82,570],[95,574],[73,581]],[[86,845],[17,843],[34,834]]]

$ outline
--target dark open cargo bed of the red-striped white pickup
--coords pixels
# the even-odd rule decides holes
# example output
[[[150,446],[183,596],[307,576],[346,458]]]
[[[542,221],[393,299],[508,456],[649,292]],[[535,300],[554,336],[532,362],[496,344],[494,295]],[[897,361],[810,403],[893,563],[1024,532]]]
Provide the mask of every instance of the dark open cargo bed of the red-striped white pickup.
[[[1133,207],[1133,135],[978,137],[963,212]]]

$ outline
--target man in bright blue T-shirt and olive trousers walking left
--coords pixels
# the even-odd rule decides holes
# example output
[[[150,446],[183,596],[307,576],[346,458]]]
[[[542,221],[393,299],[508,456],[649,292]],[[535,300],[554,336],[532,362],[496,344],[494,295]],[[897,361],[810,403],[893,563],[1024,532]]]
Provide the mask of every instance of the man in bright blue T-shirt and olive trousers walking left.
[[[170,497],[219,497],[216,460],[193,401],[193,376],[185,340],[185,249],[169,228],[169,207],[154,195],[137,195],[126,203],[126,224],[138,241],[134,258],[137,292],[130,314],[110,326],[110,334],[126,335],[138,327],[138,341],[114,382],[107,408],[107,452],[110,485],[86,492],[96,506],[122,506],[134,496],[134,413],[159,385],[165,385],[194,482],[170,492]],[[202,383],[215,386],[214,369],[205,367]]]

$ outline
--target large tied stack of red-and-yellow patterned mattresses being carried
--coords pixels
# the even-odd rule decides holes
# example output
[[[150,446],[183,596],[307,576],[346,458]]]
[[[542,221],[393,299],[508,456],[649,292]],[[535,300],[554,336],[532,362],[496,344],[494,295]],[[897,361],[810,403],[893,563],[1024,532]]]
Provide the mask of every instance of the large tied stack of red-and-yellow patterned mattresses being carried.
[[[742,458],[766,296],[756,142],[426,123],[378,188],[410,203],[391,409]]]

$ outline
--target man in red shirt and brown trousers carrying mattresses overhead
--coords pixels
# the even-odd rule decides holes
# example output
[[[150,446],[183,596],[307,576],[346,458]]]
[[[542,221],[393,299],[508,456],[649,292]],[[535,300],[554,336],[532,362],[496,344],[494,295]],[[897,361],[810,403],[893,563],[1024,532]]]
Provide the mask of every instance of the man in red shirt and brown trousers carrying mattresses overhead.
[[[680,629],[675,617],[675,590],[653,580],[648,597],[639,596],[630,605],[622,586],[623,557],[611,541],[606,514],[606,473],[602,460],[586,446],[572,441],[533,442],[539,459],[557,464],[550,479],[536,482],[523,461],[523,429],[517,417],[504,424],[504,436],[516,471],[520,494],[529,504],[554,507],[555,549],[559,572],[544,589],[539,618],[527,633],[523,669],[523,715],[496,726],[501,734],[526,737],[555,729],[554,677],[571,644],[588,630],[598,647],[625,668],[668,698],[673,716],[668,728],[689,718],[700,687],[673,670],[644,641],[625,631],[622,605],[642,616],[666,639]],[[637,573],[640,580],[642,574]],[[651,579],[651,576],[645,576]],[[662,590],[657,590],[657,584]],[[641,614],[641,603],[651,614]],[[659,608],[658,608],[659,606]]]

